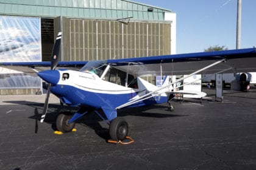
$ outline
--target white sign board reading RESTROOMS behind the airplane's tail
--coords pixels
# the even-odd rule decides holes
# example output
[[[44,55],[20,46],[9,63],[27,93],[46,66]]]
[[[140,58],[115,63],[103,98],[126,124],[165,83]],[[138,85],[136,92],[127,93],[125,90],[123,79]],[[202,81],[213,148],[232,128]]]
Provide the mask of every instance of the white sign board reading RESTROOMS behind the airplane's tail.
[[[187,75],[184,75],[184,77]],[[193,75],[183,80],[184,92],[201,92],[202,91],[202,75]],[[183,98],[201,98],[201,95],[184,94]]]

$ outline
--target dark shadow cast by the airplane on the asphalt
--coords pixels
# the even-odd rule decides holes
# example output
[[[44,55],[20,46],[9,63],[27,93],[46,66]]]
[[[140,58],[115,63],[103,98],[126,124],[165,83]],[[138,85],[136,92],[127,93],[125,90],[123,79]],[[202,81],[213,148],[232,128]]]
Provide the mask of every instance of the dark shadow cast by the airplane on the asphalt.
[[[7,101],[6,101],[7,102]],[[43,112],[43,103],[33,103],[33,102],[27,102],[27,101],[8,101],[8,103],[13,104],[23,104],[29,107],[34,107],[34,115],[28,117],[30,119],[35,120],[35,134],[38,133],[38,128],[40,128],[40,119],[41,119],[41,112]],[[49,104],[48,106],[48,114],[46,114],[46,117],[44,118],[44,123],[51,124],[52,130],[57,131],[56,127],[56,120],[59,114],[62,114],[63,112],[76,112],[79,109],[79,107],[71,107],[71,106],[60,106],[59,104]],[[157,110],[166,110],[166,114],[160,114],[157,112]],[[161,106],[161,105],[154,105],[154,106],[142,106],[142,107],[136,107],[136,109],[133,107],[121,109],[118,110],[118,116],[120,117],[126,117],[126,116],[138,116],[138,117],[152,117],[152,118],[166,118],[166,117],[185,117],[188,115],[176,115],[171,114],[171,112],[167,112],[168,107]],[[100,114],[105,118],[105,115],[102,111],[99,111]],[[108,128],[102,127],[101,123],[102,119],[97,115],[94,114],[94,112],[89,112],[87,115],[82,117],[80,120],[78,120],[76,123],[79,123],[82,126],[91,128],[95,131],[95,133],[103,138],[105,141],[107,141],[109,137]],[[106,123],[105,123],[106,124]],[[106,124],[107,126],[107,124]]]

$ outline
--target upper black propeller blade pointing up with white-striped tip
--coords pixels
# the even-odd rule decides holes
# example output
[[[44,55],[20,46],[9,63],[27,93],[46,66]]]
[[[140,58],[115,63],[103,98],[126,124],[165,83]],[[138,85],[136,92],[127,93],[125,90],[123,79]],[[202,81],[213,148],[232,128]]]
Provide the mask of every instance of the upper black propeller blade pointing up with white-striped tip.
[[[59,61],[59,53],[60,53],[60,43],[62,39],[62,33],[59,32],[55,43],[54,48],[52,49],[52,56],[51,56],[51,70],[55,70]]]

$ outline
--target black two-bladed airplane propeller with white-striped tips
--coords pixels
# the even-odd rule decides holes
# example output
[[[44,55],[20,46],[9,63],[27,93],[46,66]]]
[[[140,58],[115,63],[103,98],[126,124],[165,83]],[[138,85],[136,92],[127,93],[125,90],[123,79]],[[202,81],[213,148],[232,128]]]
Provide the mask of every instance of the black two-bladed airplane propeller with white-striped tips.
[[[58,65],[61,38],[62,38],[62,33],[59,32],[59,34],[56,38],[56,41],[54,43],[54,48],[52,50],[51,70],[55,70],[55,68]],[[51,92],[51,85],[52,85],[51,83],[48,84],[48,90],[47,90],[47,94],[46,94],[46,98],[45,98],[44,106],[43,106],[43,114],[41,115],[41,120],[40,120],[41,123],[44,121],[44,118],[45,118],[47,110],[48,110],[49,97],[50,97],[50,92]]]

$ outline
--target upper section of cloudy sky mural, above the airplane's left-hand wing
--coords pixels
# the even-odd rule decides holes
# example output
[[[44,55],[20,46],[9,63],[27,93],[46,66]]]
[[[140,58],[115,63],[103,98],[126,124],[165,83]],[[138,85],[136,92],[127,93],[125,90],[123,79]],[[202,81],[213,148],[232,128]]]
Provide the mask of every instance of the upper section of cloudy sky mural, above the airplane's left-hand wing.
[[[0,16],[0,61],[41,61],[40,18]]]

